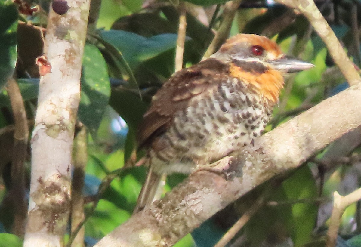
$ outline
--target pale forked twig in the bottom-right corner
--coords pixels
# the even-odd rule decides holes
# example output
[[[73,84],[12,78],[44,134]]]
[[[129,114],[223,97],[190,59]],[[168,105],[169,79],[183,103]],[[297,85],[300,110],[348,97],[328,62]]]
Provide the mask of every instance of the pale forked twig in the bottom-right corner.
[[[337,191],[334,192],[334,208],[332,209],[330,226],[329,230],[327,231],[326,247],[334,247],[336,245],[336,239],[343,212],[349,205],[357,202],[360,199],[361,188],[358,188],[347,196],[342,196]]]

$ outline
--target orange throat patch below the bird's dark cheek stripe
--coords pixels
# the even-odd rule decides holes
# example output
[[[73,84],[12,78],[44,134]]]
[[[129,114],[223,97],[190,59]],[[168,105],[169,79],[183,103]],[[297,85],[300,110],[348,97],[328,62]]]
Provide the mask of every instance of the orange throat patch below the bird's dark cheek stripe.
[[[241,79],[245,84],[251,85],[256,92],[273,104],[278,102],[280,90],[284,85],[281,72],[268,69],[264,73],[252,73],[232,64],[230,74],[232,77]]]

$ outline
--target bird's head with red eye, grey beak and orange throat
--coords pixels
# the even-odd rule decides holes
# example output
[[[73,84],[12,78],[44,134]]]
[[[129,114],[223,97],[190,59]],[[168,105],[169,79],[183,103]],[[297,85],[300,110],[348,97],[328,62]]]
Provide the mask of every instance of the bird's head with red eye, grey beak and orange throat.
[[[265,36],[238,34],[229,38],[211,58],[230,65],[232,76],[251,84],[274,103],[283,88],[283,74],[314,67],[313,64],[285,55]]]

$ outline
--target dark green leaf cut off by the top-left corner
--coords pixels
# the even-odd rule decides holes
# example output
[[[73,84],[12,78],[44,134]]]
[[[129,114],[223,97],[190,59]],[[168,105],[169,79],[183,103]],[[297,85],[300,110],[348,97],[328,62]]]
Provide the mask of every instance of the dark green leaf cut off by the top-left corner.
[[[10,0],[0,0],[0,90],[12,76],[17,52],[18,10]]]

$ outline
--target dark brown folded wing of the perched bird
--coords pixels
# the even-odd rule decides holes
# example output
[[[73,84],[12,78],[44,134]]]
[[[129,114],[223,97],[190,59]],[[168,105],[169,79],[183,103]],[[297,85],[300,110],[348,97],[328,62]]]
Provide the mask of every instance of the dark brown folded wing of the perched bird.
[[[163,133],[174,114],[186,108],[192,97],[205,91],[217,90],[221,81],[218,78],[226,74],[229,74],[229,66],[214,58],[175,73],[158,90],[151,107],[144,114],[137,135],[139,147],[147,146],[153,138]]]

